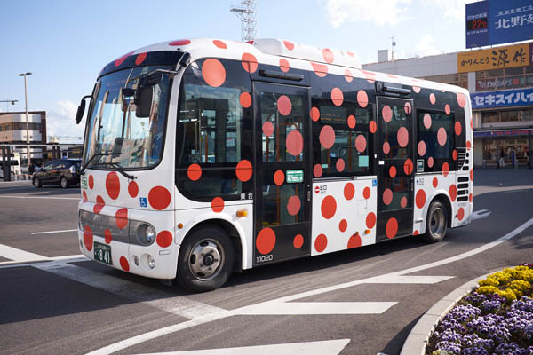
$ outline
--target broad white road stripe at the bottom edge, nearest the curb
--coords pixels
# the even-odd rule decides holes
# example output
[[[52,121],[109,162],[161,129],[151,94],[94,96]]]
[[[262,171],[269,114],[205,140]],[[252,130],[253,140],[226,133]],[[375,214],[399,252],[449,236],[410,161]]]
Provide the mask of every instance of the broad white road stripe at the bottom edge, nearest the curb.
[[[348,343],[350,343],[350,339],[338,339],[322,342],[244,346],[242,348],[155,352],[145,355],[337,355]]]

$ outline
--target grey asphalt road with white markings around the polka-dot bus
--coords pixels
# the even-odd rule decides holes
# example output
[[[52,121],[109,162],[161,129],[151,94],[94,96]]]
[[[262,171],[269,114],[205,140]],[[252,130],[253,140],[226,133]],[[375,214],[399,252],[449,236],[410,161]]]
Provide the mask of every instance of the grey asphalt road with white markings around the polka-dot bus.
[[[76,229],[78,196],[0,184],[2,354],[396,354],[442,296],[531,262],[533,248],[533,171],[476,170],[474,210],[490,213],[441,243],[411,237],[267,265],[193,295],[80,258],[76,232],[42,233]],[[15,260],[43,261],[12,264],[12,248],[31,253]]]

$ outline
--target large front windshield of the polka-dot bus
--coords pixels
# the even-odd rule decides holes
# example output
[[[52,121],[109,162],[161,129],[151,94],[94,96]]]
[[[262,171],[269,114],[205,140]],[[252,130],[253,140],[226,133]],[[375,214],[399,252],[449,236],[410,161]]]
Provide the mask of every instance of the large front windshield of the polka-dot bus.
[[[153,86],[152,110],[148,117],[137,117],[133,97],[123,88],[136,89],[139,75],[168,66],[145,66],[124,69],[99,79],[94,91],[91,118],[87,126],[84,163],[91,168],[120,166],[144,169],[157,165],[163,154],[170,79]]]

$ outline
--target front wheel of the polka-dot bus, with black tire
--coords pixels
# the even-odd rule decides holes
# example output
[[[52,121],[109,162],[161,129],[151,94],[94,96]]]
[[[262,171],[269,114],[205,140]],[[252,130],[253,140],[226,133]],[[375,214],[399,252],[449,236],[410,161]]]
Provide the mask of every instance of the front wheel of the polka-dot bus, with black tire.
[[[200,228],[181,244],[176,281],[189,291],[211,291],[226,283],[234,261],[235,250],[226,232],[212,226]]]

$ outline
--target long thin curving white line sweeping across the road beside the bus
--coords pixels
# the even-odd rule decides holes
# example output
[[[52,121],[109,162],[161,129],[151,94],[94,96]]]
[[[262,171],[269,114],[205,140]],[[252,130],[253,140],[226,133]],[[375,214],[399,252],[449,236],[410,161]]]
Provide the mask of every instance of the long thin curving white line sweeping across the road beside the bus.
[[[353,287],[353,286],[361,285],[363,283],[371,283],[373,280],[379,280],[379,278],[381,278],[382,280],[386,280],[387,278],[390,278],[390,277],[402,276],[402,275],[404,275],[406,273],[419,272],[419,271],[430,269],[430,268],[433,268],[433,267],[436,267],[436,266],[441,266],[443,264],[453,263],[455,261],[464,259],[464,258],[466,258],[468,256],[473,256],[473,255],[479,254],[479,253],[481,253],[481,252],[483,252],[485,250],[488,250],[489,248],[494,248],[497,245],[503,243],[504,241],[508,241],[508,240],[512,239],[514,236],[518,235],[519,233],[525,231],[531,225],[533,225],[533,218],[529,219],[528,221],[526,221],[525,223],[523,223],[519,227],[513,229],[513,231],[505,234],[503,237],[498,238],[496,241],[491,241],[488,244],[485,244],[485,245],[483,245],[483,246],[481,246],[479,248],[475,248],[475,249],[473,249],[471,251],[467,251],[467,252],[465,252],[463,254],[459,254],[458,256],[451,256],[451,257],[448,257],[446,259],[442,259],[442,260],[434,262],[434,263],[424,264],[424,265],[420,265],[420,266],[416,266],[416,267],[411,267],[410,269],[402,270],[402,271],[399,271],[399,272],[390,272],[390,273],[386,273],[386,274],[378,276],[378,277],[372,277],[372,278],[363,279],[363,280],[354,280],[354,281],[351,281],[351,282],[346,282],[346,283],[343,283],[343,284],[340,284],[340,285],[330,286],[330,287],[326,287],[326,288],[318,288],[318,289],[315,289],[315,290],[302,292],[302,293],[299,293],[299,294],[296,294],[296,295],[285,296],[285,297],[281,297],[281,298],[278,298],[278,299],[275,299],[275,300],[271,300],[271,301],[267,301],[267,302],[274,302],[274,301],[277,301],[277,302],[289,302],[289,301],[296,300],[298,298],[303,298],[303,297],[306,297],[306,296],[315,296],[315,295],[320,295],[320,294],[325,293],[325,292],[335,291],[335,290],[342,289],[342,288],[350,288],[350,287]],[[247,306],[247,307],[249,307],[249,306]],[[189,327],[196,327],[196,326],[199,326],[199,325],[202,325],[202,324],[205,324],[205,323],[209,323],[209,322],[211,322],[213,320],[224,319],[224,318],[230,317],[232,315],[237,314],[238,311],[239,311],[239,309],[235,309],[233,311],[222,311],[222,312],[217,312],[217,313],[211,313],[211,314],[206,315],[203,318],[189,320],[189,321],[186,321],[186,322],[183,322],[183,323],[179,323],[179,324],[176,324],[176,325],[170,326],[170,327],[162,327],[162,328],[159,328],[159,329],[155,329],[155,330],[153,330],[151,332],[148,332],[148,333],[145,333],[145,334],[133,336],[133,337],[131,337],[129,339],[125,339],[125,340],[117,342],[117,343],[109,344],[109,345],[107,345],[107,346],[105,346],[103,348],[100,348],[100,349],[96,350],[96,351],[91,351],[88,355],[104,355],[104,354],[107,355],[107,354],[111,354],[111,353],[113,353],[115,351],[121,351],[121,350],[127,349],[127,348],[129,348],[129,347],[131,347],[133,345],[137,345],[139,343],[144,343],[144,342],[147,342],[148,340],[153,340],[153,339],[158,338],[158,337],[163,336],[163,335],[169,335],[171,333],[178,332],[179,330],[187,329]]]

